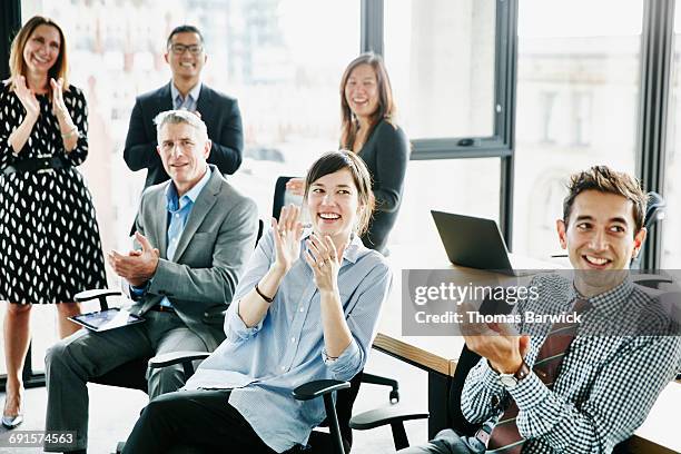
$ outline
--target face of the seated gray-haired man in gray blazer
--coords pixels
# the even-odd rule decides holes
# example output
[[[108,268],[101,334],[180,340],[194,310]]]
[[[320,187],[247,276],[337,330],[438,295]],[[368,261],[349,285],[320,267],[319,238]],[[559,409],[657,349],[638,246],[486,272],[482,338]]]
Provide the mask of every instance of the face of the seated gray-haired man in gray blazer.
[[[206,172],[210,140],[203,140],[198,130],[185,122],[166,124],[160,130],[158,154],[164,169],[172,179],[178,195],[184,195]]]

